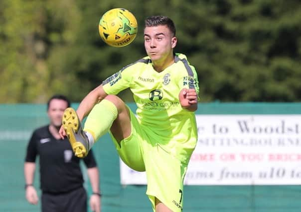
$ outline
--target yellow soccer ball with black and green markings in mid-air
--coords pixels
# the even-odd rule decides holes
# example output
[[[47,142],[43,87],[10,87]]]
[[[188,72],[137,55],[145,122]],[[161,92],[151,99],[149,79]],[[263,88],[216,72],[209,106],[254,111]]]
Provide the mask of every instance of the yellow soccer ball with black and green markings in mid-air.
[[[124,47],[132,43],[137,35],[135,16],[127,9],[114,8],[100,19],[98,30],[105,43],[113,47]]]

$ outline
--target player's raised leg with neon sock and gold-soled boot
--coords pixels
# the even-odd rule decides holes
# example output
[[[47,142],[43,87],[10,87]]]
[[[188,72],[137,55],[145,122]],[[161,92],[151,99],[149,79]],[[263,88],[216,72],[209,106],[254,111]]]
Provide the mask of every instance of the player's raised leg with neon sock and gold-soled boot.
[[[110,128],[118,142],[131,134],[128,108],[115,95],[106,96],[93,107],[87,117],[84,129],[72,108],[65,110],[62,123],[73,152],[78,157],[85,157],[94,142],[98,141]]]

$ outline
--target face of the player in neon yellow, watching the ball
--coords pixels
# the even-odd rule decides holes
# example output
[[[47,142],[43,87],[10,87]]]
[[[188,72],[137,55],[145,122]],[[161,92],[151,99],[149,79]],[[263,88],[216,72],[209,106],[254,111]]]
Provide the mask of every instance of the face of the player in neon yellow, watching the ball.
[[[144,29],[144,46],[152,62],[164,62],[173,58],[176,37],[165,25],[146,27]]]

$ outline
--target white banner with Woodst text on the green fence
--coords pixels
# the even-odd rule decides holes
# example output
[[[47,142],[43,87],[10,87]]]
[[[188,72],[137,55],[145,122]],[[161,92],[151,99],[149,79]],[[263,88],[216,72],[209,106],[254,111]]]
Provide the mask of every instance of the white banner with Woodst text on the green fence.
[[[301,115],[196,115],[185,185],[301,185]],[[147,184],[120,162],[121,184]]]

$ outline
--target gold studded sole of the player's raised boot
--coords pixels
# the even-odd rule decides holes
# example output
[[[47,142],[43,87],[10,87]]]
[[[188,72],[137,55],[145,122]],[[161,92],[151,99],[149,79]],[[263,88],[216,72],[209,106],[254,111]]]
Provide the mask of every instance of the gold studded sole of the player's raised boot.
[[[80,158],[85,157],[88,151],[80,141],[76,141],[74,135],[80,129],[80,121],[73,108],[69,107],[64,111],[62,124],[75,156]]]

